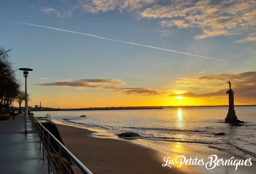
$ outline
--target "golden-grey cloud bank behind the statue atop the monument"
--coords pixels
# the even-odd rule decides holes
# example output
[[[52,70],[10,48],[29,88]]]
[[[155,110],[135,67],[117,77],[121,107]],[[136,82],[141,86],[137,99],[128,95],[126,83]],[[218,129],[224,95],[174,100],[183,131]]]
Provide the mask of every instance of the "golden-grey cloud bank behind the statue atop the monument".
[[[217,97],[225,96],[229,87],[227,81],[231,81],[231,88],[235,92],[237,101],[255,103],[256,97],[256,72],[242,72],[231,74],[210,74],[204,76],[192,76],[179,78],[176,84],[183,89],[193,92],[183,94],[169,94],[169,96],[181,97]]]

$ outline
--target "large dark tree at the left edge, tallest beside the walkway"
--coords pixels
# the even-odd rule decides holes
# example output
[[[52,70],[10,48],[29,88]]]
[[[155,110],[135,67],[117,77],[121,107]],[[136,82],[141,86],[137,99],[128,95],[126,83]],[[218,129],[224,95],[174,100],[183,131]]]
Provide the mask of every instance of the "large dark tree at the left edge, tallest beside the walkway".
[[[11,51],[11,48],[6,50],[0,46],[0,111],[2,111],[3,104],[6,104],[6,111],[10,110],[21,86],[21,83],[16,79],[16,71],[12,67],[13,63],[8,60]]]

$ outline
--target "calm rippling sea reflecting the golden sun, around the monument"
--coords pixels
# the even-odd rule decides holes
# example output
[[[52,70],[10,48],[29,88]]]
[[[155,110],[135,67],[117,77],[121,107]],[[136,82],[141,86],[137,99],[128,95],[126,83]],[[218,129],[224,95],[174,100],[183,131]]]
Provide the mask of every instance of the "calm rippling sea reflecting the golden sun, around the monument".
[[[223,123],[228,107],[37,111],[34,115],[45,117],[48,113],[52,119],[65,124],[102,128],[115,135],[136,132],[146,141],[201,143],[209,148],[256,161],[256,107],[235,107],[235,111],[238,119],[246,122],[246,126]],[[219,132],[226,135],[215,135]]]

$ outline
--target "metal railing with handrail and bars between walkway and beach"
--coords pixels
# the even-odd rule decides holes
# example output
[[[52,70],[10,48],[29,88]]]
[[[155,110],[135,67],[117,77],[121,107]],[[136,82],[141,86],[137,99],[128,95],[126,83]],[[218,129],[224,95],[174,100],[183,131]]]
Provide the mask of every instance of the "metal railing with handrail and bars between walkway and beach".
[[[49,114],[50,115],[50,114]],[[74,166],[82,173],[92,174],[55,136],[48,131],[33,115],[29,115],[35,131],[38,149],[42,149],[42,160],[48,161],[48,174],[70,173],[73,174]],[[77,168],[76,168],[77,170]],[[81,173],[79,172],[79,173]]]

